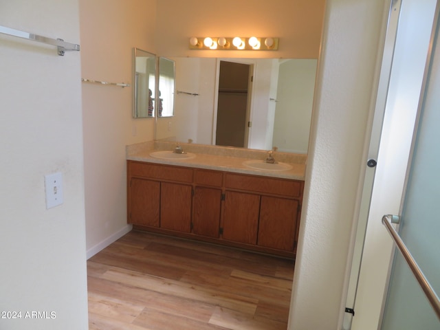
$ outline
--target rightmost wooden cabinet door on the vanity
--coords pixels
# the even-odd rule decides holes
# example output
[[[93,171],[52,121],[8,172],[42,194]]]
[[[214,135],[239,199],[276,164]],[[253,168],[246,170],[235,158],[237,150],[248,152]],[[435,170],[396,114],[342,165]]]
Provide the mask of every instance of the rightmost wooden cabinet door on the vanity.
[[[261,197],[258,245],[293,251],[296,241],[298,201]]]

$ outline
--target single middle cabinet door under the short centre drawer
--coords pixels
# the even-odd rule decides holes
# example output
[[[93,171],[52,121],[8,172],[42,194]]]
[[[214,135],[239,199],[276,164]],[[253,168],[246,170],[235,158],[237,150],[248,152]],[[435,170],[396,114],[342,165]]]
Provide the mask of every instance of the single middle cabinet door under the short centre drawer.
[[[197,235],[219,237],[221,190],[195,187],[192,232]]]

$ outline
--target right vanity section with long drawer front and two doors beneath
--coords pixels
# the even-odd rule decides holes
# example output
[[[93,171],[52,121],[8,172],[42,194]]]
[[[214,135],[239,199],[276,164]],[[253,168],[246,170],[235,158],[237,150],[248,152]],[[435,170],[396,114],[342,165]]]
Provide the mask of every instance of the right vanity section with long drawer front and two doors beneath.
[[[296,252],[303,181],[225,174],[223,239]]]

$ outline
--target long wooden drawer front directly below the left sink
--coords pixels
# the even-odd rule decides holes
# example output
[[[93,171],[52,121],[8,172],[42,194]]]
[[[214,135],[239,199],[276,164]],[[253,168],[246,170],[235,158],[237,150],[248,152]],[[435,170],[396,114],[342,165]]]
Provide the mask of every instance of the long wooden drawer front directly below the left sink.
[[[192,168],[144,162],[129,162],[129,173],[137,177],[192,183]]]

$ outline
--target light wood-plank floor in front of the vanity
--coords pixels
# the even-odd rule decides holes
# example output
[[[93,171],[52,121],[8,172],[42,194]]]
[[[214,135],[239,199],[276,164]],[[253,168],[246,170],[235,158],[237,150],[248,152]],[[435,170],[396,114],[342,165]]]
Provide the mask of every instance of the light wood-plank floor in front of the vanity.
[[[89,329],[285,330],[291,260],[131,231],[87,261]]]

